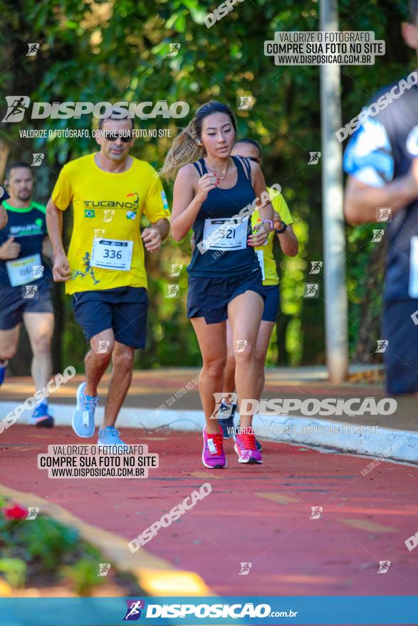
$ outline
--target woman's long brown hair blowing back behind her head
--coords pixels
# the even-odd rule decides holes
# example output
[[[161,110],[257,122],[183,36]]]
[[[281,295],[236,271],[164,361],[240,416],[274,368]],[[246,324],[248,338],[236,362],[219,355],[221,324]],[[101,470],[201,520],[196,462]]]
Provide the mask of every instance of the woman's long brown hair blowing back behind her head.
[[[225,115],[228,115],[236,134],[234,113],[228,105],[217,102],[217,100],[211,100],[202,105],[194,114],[193,120],[174,139],[172,147],[169,149],[167,157],[165,157],[162,169],[167,180],[173,179],[183,165],[204,157],[206,151],[201,142],[202,125],[204,118],[212,115],[212,113],[225,113]]]

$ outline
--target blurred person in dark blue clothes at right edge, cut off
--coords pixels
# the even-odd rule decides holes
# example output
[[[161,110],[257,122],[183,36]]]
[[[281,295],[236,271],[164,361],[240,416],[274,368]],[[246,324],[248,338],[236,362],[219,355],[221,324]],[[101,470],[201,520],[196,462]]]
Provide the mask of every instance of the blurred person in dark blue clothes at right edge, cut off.
[[[402,24],[418,45],[418,0]],[[418,87],[417,72],[384,87],[352,135],[344,168],[345,217],[386,228],[387,267],[382,339],[387,340],[387,391],[418,392]],[[385,105],[385,106],[383,106]],[[390,209],[390,211],[387,211]],[[415,318],[415,319],[414,319]]]

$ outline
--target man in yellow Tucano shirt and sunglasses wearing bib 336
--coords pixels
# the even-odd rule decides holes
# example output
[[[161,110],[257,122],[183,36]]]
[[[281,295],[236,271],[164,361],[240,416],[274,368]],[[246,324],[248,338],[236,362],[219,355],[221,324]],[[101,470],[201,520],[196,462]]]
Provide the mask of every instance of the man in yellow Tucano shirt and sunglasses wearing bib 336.
[[[99,445],[123,445],[115,428],[132,379],[134,351],[145,347],[147,274],[144,245],[160,250],[169,232],[169,209],[155,169],[129,156],[133,120],[100,120],[100,151],[66,164],[47,206],[53,245],[53,277],[66,282],[75,319],[90,350],[85,383],[77,390],[73,430],[92,437],[98,384],[110,360],[112,374],[99,429]],[[63,248],[63,211],[73,203],[73,233],[68,258]],[[150,228],[140,232],[145,215]]]

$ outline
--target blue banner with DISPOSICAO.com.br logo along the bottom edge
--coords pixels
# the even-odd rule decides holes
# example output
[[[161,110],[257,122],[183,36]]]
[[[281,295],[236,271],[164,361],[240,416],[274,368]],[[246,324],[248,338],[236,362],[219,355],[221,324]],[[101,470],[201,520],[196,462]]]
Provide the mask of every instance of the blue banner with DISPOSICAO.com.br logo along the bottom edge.
[[[417,625],[418,595],[0,598],[0,626]]]

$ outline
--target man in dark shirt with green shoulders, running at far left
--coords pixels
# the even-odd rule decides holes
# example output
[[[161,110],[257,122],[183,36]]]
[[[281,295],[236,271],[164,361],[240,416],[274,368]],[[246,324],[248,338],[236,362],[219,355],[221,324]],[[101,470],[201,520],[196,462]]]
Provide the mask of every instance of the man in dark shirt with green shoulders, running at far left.
[[[42,253],[52,254],[46,208],[32,200],[33,176],[27,164],[11,164],[5,186],[10,197],[3,201],[9,221],[0,230],[0,384],[9,359],[16,354],[23,322],[33,350],[33,382],[38,390],[52,373],[52,274],[42,260]],[[31,423],[53,426],[48,398],[36,400]]]

